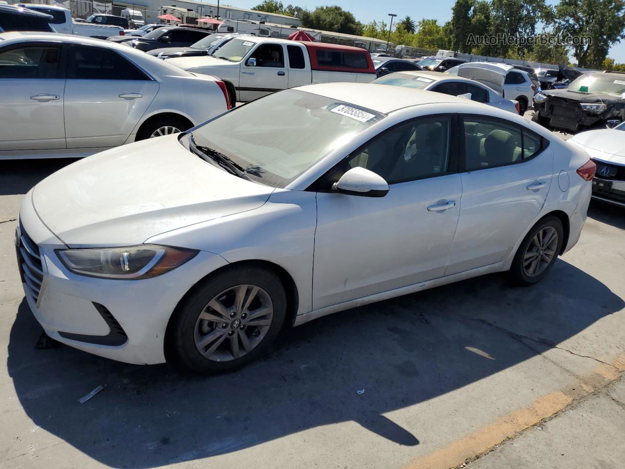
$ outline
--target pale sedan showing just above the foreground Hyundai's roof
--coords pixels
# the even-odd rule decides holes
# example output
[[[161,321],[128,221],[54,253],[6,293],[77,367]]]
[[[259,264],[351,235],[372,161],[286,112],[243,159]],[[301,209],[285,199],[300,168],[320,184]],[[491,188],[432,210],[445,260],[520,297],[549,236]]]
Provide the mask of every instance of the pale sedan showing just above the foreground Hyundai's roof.
[[[501,93],[497,93],[497,91],[479,83],[479,81],[450,76],[440,72],[403,71],[382,76],[372,81],[372,83],[436,91],[436,93],[471,99],[471,101],[484,103],[515,114],[519,114],[520,111],[518,101],[503,98]]]

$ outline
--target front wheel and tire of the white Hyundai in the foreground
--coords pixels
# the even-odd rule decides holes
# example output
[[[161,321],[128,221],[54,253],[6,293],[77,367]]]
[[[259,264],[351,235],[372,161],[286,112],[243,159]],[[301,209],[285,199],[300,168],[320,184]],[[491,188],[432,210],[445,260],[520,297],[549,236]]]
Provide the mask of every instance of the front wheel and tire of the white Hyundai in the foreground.
[[[249,306],[237,308],[237,298]],[[271,270],[221,271],[202,281],[174,313],[166,340],[168,359],[202,374],[236,370],[267,351],[285,316],[284,286]]]

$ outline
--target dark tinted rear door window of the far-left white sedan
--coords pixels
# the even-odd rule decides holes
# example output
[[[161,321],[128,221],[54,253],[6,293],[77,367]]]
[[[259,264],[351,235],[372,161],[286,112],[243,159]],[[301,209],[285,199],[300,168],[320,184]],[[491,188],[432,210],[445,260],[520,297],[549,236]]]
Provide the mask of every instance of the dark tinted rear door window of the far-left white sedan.
[[[70,54],[68,79],[148,80],[128,59],[103,48],[74,46]]]

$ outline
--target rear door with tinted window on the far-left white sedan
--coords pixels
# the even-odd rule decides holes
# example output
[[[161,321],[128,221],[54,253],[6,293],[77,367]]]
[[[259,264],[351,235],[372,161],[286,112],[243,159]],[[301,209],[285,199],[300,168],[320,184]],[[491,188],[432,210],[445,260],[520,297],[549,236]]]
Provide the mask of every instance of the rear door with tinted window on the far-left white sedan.
[[[68,148],[124,144],[159,84],[118,52],[72,46],[65,89]]]

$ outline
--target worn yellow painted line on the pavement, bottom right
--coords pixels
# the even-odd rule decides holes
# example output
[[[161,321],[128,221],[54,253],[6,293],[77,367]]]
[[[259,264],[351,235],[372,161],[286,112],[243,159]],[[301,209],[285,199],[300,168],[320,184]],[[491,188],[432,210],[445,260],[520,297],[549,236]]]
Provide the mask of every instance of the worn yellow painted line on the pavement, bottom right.
[[[625,354],[617,356],[612,365],[599,365],[587,376],[565,390],[554,391],[536,399],[531,405],[514,410],[479,430],[452,441],[440,450],[412,460],[406,469],[450,469],[485,453],[507,438],[536,425],[544,418],[566,408],[573,400],[583,398],[603,388],[625,371]]]

